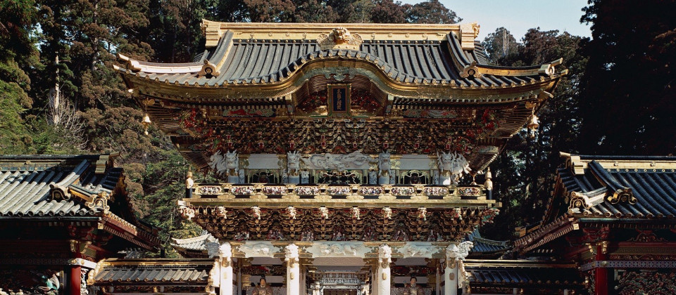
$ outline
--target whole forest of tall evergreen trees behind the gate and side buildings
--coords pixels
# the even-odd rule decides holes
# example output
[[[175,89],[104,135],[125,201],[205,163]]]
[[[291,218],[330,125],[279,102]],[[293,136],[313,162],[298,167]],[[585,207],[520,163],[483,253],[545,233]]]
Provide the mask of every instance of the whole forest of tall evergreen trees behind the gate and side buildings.
[[[539,134],[516,134],[491,165],[503,210],[485,235],[508,239],[514,227],[542,218],[560,151],[674,152],[674,11],[676,0],[590,0],[580,21],[591,25],[591,39],[539,28],[520,37],[499,28],[483,40],[496,65],[563,58],[570,71],[541,110]],[[203,18],[453,23],[461,16],[438,0],[0,0],[0,154],[120,152],[134,208],[161,228],[175,255],[169,237],[200,231],[176,213],[189,165],[161,132],[144,136],[142,112],[113,71],[115,53],[192,60],[204,46]]]

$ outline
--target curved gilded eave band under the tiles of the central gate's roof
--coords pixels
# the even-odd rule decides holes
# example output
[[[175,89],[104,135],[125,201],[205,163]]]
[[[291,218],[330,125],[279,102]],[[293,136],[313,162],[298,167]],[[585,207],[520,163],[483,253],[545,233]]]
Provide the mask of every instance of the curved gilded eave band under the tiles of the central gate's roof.
[[[349,72],[348,70],[349,69]],[[428,98],[449,100],[453,103],[499,103],[532,96],[532,92],[551,92],[556,81],[565,73],[530,79],[519,86],[489,87],[482,84],[456,84],[454,80],[431,81],[416,85],[412,82],[396,81],[371,63],[360,60],[317,60],[301,67],[288,79],[275,83],[224,84],[222,86],[198,86],[171,84],[140,77],[129,70],[123,70],[130,91],[136,95],[154,96],[169,100],[223,101],[232,98],[282,98],[290,96],[310,78],[318,75],[360,74],[368,77],[378,88],[389,96],[402,98]],[[159,83],[158,83],[159,82]]]

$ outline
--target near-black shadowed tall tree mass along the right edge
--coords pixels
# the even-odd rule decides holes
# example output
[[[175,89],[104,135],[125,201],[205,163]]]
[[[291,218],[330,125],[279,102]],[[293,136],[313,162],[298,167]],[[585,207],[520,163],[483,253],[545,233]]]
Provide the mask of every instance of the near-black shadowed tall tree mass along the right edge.
[[[672,155],[676,151],[676,1],[591,0],[582,22],[589,65],[583,152]]]

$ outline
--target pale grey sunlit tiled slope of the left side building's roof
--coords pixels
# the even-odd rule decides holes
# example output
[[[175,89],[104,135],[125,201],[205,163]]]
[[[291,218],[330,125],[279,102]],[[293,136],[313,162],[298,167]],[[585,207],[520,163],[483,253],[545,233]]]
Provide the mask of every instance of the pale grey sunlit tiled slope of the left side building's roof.
[[[92,216],[91,209],[75,197],[53,199],[54,188],[82,194],[111,194],[122,169],[108,168],[109,155],[5,155],[0,156],[1,216]],[[101,162],[104,169],[97,169]]]

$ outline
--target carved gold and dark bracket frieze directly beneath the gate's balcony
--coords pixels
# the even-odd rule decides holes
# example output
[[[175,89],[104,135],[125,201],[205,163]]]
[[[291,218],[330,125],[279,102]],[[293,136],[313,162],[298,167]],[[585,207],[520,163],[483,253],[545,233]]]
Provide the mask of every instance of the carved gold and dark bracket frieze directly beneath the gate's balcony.
[[[194,207],[192,207],[194,208]],[[443,242],[461,240],[482,222],[485,209],[354,209],[319,207],[308,208],[232,208],[225,206],[225,216],[218,216],[216,207],[200,206],[194,208],[193,221],[208,230],[214,237],[223,240],[251,241],[239,251],[256,255],[276,251],[269,241],[378,241],[399,242],[426,241]],[[290,214],[289,212],[294,212]],[[268,244],[256,244],[253,241],[268,241]],[[339,254],[353,253],[346,248],[337,248],[337,244],[327,244],[317,249]],[[336,247],[334,247],[336,246]],[[417,246],[417,245],[416,245]],[[338,251],[338,252],[335,252]],[[361,253],[360,248],[355,248]],[[313,250],[314,251],[314,250]],[[425,247],[403,249],[409,256],[422,256],[432,251]],[[404,252],[401,252],[402,254]],[[326,252],[323,252],[326,254]],[[265,255],[263,255],[265,256]]]

